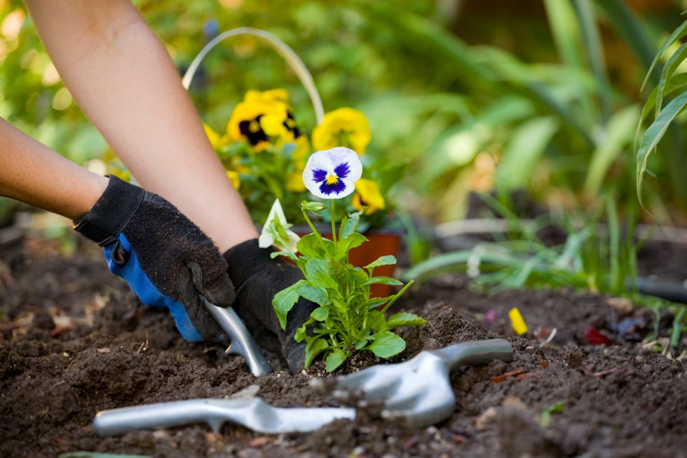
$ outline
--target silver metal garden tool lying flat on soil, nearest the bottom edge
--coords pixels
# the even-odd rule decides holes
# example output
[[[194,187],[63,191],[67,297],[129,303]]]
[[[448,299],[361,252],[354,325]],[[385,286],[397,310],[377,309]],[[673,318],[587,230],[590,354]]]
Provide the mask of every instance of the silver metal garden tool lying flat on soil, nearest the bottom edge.
[[[277,408],[261,398],[189,399],[98,412],[97,436],[117,436],[138,429],[158,429],[207,423],[216,433],[233,422],[258,433],[315,431],[336,419],[353,419],[352,408]]]

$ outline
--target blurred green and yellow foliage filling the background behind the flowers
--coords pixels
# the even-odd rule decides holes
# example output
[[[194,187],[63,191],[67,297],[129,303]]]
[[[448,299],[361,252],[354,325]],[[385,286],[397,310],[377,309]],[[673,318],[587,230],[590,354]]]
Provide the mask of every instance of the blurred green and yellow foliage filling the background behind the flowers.
[[[641,82],[683,8],[672,0],[135,4],[180,72],[226,29],[280,37],[311,70],[325,111],[360,109],[372,127],[370,154],[409,164],[399,197],[434,221],[462,217],[470,190],[507,196],[524,188],[566,208],[597,206],[611,192],[618,208],[636,205],[633,141],[651,90]],[[0,0],[0,65],[0,116],[78,163],[107,153],[20,1]],[[311,131],[305,90],[255,39],[213,50],[191,94],[203,119],[224,130],[246,90],[277,87],[289,90],[297,120]],[[644,203],[654,220],[681,223],[681,129],[668,137],[665,152],[648,160]]]

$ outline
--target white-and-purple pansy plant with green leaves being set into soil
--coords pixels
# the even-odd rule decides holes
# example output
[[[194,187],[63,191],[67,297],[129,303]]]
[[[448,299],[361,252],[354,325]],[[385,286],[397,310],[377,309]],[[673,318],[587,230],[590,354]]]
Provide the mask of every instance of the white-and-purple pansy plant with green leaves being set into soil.
[[[323,237],[308,215],[327,210],[327,205],[318,201],[301,203],[301,213],[311,233],[298,239],[295,248],[290,225],[278,209],[271,212],[261,235],[261,246],[275,246],[273,256],[287,257],[304,274],[304,279],[278,292],[273,299],[282,328],[286,328],[287,314],[300,297],[319,306],[295,334],[298,342],[306,342],[306,368],[322,356],[327,371],[332,371],[355,351],[362,350],[390,358],[405,349],[404,340],[393,330],[425,323],[423,318],[404,312],[386,318],[388,309],[412,283],[403,285],[390,277],[374,276],[376,267],[395,264],[395,257],[381,256],[364,267],[348,262],[348,252],[367,242],[357,231],[366,208],[343,217],[337,231],[335,207],[338,199],[355,192],[361,175],[362,163],[352,149],[334,147],[315,152],[306,163],[303,180],[313,195],[329,201],[332,238]],[[370,286],[374,284],[402,288],[388,297],[370,297]]]

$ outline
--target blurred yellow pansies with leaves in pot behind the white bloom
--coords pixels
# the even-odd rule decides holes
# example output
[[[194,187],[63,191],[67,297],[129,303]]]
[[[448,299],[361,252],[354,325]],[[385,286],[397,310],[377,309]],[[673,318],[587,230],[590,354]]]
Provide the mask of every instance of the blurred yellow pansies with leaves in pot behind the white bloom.
[[[312,132],[311,146],[306,132],[297,125],[286,90],[249,90],[234,107],[226,123],[226,133],[217,133],[207,125],[205,133],[255,222],[264,221],[270,210],[269,204],[279,199],[287,218],[302,223],[299,221],[299,204],[308,198],[302,179],[308,156],[313,149],[324,151],[346,147],[355,151],[365,163],[365,175],[358,177],[360,180],[351,180],[342,173],[327,175],[330,181],[334,176],[342,177],[333,185],[325,182],[326,186],[321,187],[324,191],[331,192],[344,183],[355,182],[353,187],[346,188],[347,191],[355,189],[346,193],[346,197],[336,196],[340,202],[336,218],[341,219],[348,213],[365,208],[360,217],[361,231],[387,226],[387,216],[393,212],[393,206],[385,196],[389,188],[400,180],[403,165],[371,161],[369,154],[365,153],[371,134],[362,112],[342,107],[324,114]],[[319,170],[324,173],[324,169]],[[355,170],[350,173],[355,173]],[[313,191],[320,198],[332,197],[319,193]],[[327,214],[321,219],[329,222],[329,218]]]

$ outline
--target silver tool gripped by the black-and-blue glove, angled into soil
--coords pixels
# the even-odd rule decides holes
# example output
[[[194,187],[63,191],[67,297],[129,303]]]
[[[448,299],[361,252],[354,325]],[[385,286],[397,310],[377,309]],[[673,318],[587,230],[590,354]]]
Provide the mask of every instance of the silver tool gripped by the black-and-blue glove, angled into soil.
[[[208,311],[212,318],[215,318],[219,327],[231,339],[231,344],[224,353],[243,356],[248,364],[248,368],[250,368],[250,372],[256,377],[272,372],[272,366],[261,353],[245,324],[236,314],[236,311],[233,311],[231,307],[217,307],[208,299],[205,299],[203,295],[198,296],[200,297],[200,302],[205,306],[205,310]]]

